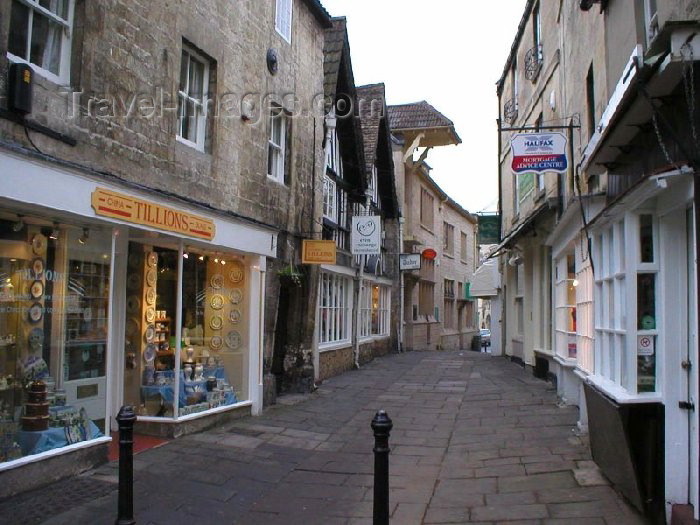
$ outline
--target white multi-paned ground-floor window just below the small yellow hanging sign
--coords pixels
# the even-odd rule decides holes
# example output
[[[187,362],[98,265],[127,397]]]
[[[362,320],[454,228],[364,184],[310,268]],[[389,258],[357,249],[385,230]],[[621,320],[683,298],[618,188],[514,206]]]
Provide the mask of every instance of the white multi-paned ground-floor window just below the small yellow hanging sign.
[[[352,281],[332,273],[320,280],[319,319],[321,344],[350,342]]]

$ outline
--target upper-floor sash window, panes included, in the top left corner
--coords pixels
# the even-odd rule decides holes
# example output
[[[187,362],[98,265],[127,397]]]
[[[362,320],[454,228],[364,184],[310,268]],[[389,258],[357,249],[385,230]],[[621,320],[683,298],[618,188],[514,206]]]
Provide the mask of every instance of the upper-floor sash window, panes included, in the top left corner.
[[[68,83],[73,0],[12,0],[8,58]]]

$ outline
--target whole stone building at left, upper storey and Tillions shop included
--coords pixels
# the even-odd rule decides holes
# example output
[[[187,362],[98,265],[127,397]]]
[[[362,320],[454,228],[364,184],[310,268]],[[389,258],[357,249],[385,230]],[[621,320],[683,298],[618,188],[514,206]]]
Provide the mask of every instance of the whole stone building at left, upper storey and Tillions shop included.
[[[280,339],[310,355],[317,272],[278,298],[320,234],[330,26],[317,0],[2,3],[0,496],[104,459],[123,404],[178,435],[258,413]]]

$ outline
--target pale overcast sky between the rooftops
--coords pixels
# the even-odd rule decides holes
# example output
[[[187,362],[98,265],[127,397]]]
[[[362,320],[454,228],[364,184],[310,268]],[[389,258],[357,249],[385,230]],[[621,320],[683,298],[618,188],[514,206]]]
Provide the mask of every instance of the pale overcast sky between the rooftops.
[[[525,0],[322,0],[346,16],[355,82],[384,82],[389,104],[427,100],[460,146],[428,155],[440,186],[471,212],[496,209],[501,75]]]

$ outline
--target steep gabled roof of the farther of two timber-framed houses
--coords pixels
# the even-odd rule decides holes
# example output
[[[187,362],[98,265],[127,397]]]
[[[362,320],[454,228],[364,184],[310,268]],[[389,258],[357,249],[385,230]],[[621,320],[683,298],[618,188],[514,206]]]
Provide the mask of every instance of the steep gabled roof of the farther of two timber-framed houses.
[[[357,105],[364,142],[366,174],[369,177],[372,168],[377,166],[379,195],[383,208],[388,217],[398,217],[400,211],[396,196],[391,130],[387,118],[384,84],[358,87]]]

